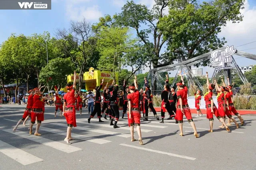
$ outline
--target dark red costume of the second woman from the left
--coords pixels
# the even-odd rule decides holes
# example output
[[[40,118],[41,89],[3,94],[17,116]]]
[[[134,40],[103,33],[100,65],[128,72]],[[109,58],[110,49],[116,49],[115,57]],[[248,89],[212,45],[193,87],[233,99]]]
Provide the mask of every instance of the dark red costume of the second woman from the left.
[[[33,106],[31,111],[31,123],[35,124],[36,117],[37,122],[42,123],[44,121],[43,105],[42,105],[42,96],[35,94],[33,97]]]

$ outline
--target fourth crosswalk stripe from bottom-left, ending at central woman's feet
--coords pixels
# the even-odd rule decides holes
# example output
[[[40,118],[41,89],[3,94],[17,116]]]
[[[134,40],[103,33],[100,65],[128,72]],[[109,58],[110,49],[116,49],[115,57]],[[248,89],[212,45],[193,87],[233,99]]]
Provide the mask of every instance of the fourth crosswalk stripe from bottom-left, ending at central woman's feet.
[[[67,127],[67,125],[62,124],[62,123],[50,123],[50,124]],[[125,137],[125,138],[131,137],[130,134],[124,134],[124,133],[118,133],[118,132],[112,132],[112,131],[104,131],[104,130],[92,129],[92,128],[88,128],[88,127],[79,127],[79,126],[77,126],[77,127],[74,127],[74,129],[80,129],[80,130],[83,130],[83,131],[90,131],[90,132],[102,133],[102,134],[105,134],[105,135],[113,135],[113,136]]]

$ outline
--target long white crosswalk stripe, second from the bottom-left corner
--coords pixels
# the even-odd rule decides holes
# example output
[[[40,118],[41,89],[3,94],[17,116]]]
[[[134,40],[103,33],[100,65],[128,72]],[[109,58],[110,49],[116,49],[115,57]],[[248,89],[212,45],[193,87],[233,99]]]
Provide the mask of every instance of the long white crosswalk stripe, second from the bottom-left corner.
[[[71,153],[71,152],[75,152],[75,151],[78,151],[78,150],[82,150],[81,148],[73,147],[71,145],[67,145],[66,143],[64,144],[64,143],[52,141],[50,139],[46,139],[44,137],[29,135],[26,132],[22,132],[22,131],[18,131],[18,130],[16,130],[15,133],[12,132],[12,129],[5,129],[3,131],[6,131],[8,133],[12,133],[12,134],[17,135],[19,137],[29,139],[31,141],[35,141],[37,143],[41,143],[43,145],[46,145],[48,147],[52,147],[54,149],[61,150],[61,151],[66,152],[66,153]]]

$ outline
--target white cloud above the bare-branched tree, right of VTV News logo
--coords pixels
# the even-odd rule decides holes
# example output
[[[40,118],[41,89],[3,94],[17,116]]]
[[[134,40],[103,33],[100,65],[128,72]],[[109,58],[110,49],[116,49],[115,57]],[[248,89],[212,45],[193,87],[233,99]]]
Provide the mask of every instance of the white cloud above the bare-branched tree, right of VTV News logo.
[[[85,0],[76,1],[84,2]],[[81,4],[67,5],[66,10],[67,16],[71,20],[81,20],[84,17],[88,21],[96,21],[102,16],[102,12],[97,5],[91,7],[81,6]]]

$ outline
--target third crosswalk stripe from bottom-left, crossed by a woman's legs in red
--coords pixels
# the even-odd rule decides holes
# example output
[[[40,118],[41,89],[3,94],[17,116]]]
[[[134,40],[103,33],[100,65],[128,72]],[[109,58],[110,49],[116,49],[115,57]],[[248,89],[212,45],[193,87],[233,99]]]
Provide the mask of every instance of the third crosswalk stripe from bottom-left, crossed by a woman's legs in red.
[[[51,133],[56,133],[56,134],[64,135],[64,136],[67,135],[67,133],[65,131],[60,131],[58,129],[51,129],[51,128],[48,128],[48,127],[42,127],[41,126],[40,130],[51,132]],[[76,134],[76,133],[72,133],[72,137],[74,137],[75,139],[82,139],[84,141],[88,141],[88,142],[92,142],[92,143],[98,143],[98,144],[105,144],[105,143],[112,142],[112,141],[108,141],[108,140],[105,140],[105,139],[97,139],[97,138],[94,138],[94,137],[79,135],[79,134]]]

